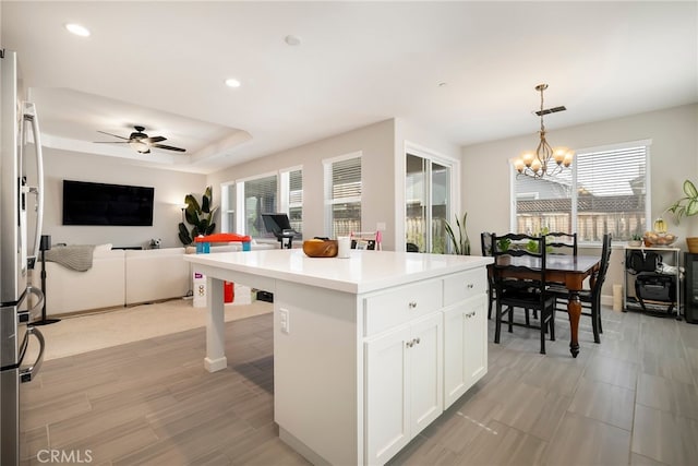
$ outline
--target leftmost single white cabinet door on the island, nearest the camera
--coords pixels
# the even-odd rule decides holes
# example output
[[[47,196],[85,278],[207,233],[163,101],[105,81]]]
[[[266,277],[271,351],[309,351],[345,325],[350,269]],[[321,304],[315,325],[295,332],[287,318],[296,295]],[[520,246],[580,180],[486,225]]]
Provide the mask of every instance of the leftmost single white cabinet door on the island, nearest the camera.
[[[366,464],[384,464],[410,441],[410,327],[365,343]]]

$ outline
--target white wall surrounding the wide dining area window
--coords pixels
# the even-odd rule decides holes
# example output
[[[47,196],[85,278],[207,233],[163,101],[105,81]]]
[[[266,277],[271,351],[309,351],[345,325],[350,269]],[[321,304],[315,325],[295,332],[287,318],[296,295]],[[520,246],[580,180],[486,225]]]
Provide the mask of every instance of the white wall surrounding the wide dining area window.
[[[462,205],[468,212],[471,238],[481,231],[509,231],[510,183],[508,160],[538,143],[537,134],[512,138],[462,148]],[[552,145],[575,150],[628,141],[652,140],[650,177],[652,216],[657,217],[683,195],[686,178],[698,180],[698,104],[640,113],[615,120],[550,130]],[[671,214],[665,215],[667,220]],[[651,225],[650,225],[651,228]],[[670,231],[679,236],[684,250],[686,236],[698,235],[698,218],[670,222]],[[479,239],[473,253],[480,252]],[[582,252],[583,253],[583,252]],[[590,251],[589,253],[599,253]],[[614,251],[604,294],[613,283],[623,283],[622,253]]]

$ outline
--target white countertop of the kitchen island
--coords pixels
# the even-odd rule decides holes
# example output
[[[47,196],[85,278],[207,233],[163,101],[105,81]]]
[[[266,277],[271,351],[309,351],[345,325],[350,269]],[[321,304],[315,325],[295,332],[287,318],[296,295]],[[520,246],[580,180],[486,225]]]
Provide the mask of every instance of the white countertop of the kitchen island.
[[[349,259],[309,258],[301,249],[188,254],[194,264],[346,292],[369,292],[470,268],[492,258],[352,250]]]

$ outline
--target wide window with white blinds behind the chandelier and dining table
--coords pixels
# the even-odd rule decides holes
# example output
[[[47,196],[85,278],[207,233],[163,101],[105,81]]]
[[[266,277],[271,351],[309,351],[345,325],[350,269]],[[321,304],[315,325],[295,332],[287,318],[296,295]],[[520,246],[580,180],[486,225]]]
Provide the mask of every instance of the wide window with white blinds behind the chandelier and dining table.
[[[650,141],[577,153],[571,170],[555,177],[514,180],[518,232],[577,231],[580,241],[604,234],[628,240],[648,228]],[[513,170],[516,174],[515,170]]]

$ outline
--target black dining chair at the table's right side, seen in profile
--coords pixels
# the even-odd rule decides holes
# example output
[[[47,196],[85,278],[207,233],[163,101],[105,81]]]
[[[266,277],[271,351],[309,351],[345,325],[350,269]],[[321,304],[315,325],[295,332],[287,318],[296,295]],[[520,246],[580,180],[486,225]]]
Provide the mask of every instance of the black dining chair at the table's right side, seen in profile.
[[[603,236],[601,246],[601,262],[599,270],[592,274],[592,285],[588,289],[579,291],[579,300],[581,301],[581,314],[591,318],[591,331],[593,332],[594,343],[601,343],[603,325],[601,324],[601,288],[606,279],[609,263],[611,261],[611,234]],[[567,312],[567,302],[569,292],[562,285],[552,285],[547,288],[549,292],[555,298],[555,309],[557,311]]]

